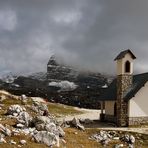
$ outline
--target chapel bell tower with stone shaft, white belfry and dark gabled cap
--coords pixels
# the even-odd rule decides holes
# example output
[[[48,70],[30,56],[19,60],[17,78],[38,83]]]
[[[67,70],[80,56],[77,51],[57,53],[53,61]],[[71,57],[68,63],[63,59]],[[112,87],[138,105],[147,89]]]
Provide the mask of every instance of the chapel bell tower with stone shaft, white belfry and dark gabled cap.
[[[128,102],[124,95],[133,83],[133,61],[136,59],[131,50],[119,53],[114,59],[117,62],[117,125],[127,126],[128,123]]]

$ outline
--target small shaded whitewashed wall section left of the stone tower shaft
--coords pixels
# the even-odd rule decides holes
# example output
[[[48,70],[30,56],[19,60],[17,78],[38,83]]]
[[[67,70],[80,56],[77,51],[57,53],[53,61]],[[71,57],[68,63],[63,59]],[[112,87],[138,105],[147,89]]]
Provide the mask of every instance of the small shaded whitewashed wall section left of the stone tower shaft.
[[[114,115],[115,101],[105,101],[105,114]]]

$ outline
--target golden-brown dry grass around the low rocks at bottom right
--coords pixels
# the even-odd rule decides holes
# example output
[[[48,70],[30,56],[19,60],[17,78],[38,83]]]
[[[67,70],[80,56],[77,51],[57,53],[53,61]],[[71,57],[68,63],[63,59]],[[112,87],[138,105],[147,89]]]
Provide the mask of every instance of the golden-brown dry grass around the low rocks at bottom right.
[[[89,137],[93,134],[98,133],[100,130],[96,128],[86,129],[85,131],[80,131],[74,128],[67,128],[65,129],[65,141],[64,144],[61,142],[60,148],[104,148],[100,143],[96,142],[95,140],[90,140]],[[137,137],[137,133],[131,132],[122,132],[126,134],[132,134]],[[148,147],[148,135],[138,134],[139,139],[136,139],[135,148],[147,148]],[[127,144],[121,142],[120,140],[112,140],[106,146],[106,148],[113,148],[116,144],[124,144],[124,148],[127,148]],[[56,147],[54,147],[56,148]]]

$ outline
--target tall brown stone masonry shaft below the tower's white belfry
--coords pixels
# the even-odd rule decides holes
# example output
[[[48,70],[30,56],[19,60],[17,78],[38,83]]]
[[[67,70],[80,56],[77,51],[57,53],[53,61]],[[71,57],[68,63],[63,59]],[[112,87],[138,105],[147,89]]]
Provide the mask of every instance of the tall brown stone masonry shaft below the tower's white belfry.
[[[117,125],[128,125],[128,102],[123,100],[127,89],[132,85],[133,77],[129,74],[119,75],[117,77]]]

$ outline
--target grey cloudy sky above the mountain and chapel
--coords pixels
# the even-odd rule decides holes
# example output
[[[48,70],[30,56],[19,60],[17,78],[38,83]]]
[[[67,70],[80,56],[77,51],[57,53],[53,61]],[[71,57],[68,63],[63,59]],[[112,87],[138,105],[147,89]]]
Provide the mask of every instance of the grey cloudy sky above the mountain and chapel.
[[[114,74],[125,49],[148,72],[148,0],[0,0],[0,74],[46,71],[53,54]]]

